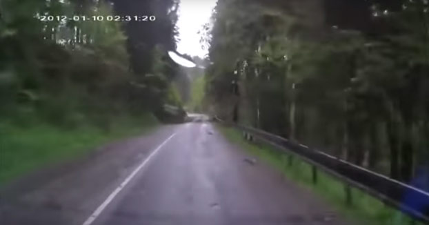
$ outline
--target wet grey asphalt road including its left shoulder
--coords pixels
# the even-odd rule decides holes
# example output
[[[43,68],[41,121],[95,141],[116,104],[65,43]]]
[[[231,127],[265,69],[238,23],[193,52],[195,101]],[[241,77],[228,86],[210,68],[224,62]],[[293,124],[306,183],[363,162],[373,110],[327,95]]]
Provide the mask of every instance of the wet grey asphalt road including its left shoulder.
[[[208,122],[163,126],[3,188],[0,224],[350,224],[250,158]]]

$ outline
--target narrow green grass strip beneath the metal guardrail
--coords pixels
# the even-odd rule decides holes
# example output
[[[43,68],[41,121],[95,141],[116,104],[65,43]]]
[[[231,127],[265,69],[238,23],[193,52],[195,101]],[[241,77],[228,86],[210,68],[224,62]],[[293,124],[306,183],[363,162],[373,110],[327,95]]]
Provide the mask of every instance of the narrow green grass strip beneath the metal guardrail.
[[[318,170],[317,184],[313,184],[312,167],[307,162],[293,157],[292,166],[289,166],[287,153],[281,153],[281,151],[266,144],[250,144],[243,139],[241,133],[235,128],[221,125],[217,128],[227,139],[246,149],[250,155],[281,170],[288,179],[299,186],[310,188],[313,193],[317,193],[322,199],[329,202],[350,221],[362,225],[420,225],[418,222],[413,223],[407,215],[386,206],[383,202],[357,188],[352,188],[352,205],[348,206],[344,184],[335,177]]]

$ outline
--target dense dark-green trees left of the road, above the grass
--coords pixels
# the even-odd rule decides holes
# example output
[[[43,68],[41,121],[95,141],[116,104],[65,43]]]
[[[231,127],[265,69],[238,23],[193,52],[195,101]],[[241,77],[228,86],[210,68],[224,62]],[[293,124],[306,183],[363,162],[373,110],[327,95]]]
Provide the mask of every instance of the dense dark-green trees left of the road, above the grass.
[[[108,21],[114,15],[154,15],[156,21]],[[54,19],[41,21],[40,16]],[[59,21],[85,15],[103,21]],[[43,117],[73,126],[138,115],[177,104],[177,1],[0,1],[0,115]],[[18,119],[19,117],[19,119]]]

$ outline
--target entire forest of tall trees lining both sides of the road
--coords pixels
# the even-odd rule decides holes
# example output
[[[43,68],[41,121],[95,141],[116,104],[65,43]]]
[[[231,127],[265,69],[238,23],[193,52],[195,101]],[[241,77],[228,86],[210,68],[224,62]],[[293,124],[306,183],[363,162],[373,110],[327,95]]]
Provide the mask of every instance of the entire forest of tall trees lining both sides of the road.
[[[176,49],[179,3],[0,1],[3,145],[10,130],[39,124],[109,132],[142,115],[162,120],[170,104],[403,181],[428,164],[427,0],[219,0],[201,30],[209,54],[194,57],[205,72],[166,53]],[[81,14],[156,20],[39,19]]]

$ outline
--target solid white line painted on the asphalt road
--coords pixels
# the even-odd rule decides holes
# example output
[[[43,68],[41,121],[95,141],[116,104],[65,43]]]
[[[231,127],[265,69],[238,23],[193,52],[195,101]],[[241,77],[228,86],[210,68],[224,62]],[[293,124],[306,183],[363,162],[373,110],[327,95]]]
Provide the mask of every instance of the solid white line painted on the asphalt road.
[[[83,222],[82,225],[91,225],[95,219],[97,219],[97,217],[99,217],[99,215],[103,212],[103,210],[108,206],[108,204],[110,204],[110,202],[112,202],[112,200],[114,199],[114,197],[116,197],[119,192],[131,181],[132,178],[134,178],[135,175],[137,175],[137,173],[139,173],[139,171],[141,170],[141,168],[143,168],[143,166],[145,166],[149,160],[154,157],[155,154],[157,154],[157,152],[159,150],[161,150],[161,148],[167,144],[168,141],[170,141],[170,139],[172,139],[176,134],[172,134],[170,137],[168,137],[168,139],[166,139],[165,141],[163,141],[162,144],[160,144],[158,146],[158,148],[156,148],[155,150],[152,151],[152,153],[150,153],[150,155],[139,165],[139,167],[137,167],[122,183],[121,185],[119,185],[116,189],[114,189],[114,191],[109,195],[109,197],[104,200],[104,202],[94,211],[94,213],[92,213],[90,215],[90,217],[88,217],[88,219],[86,219],[85,222]]]

